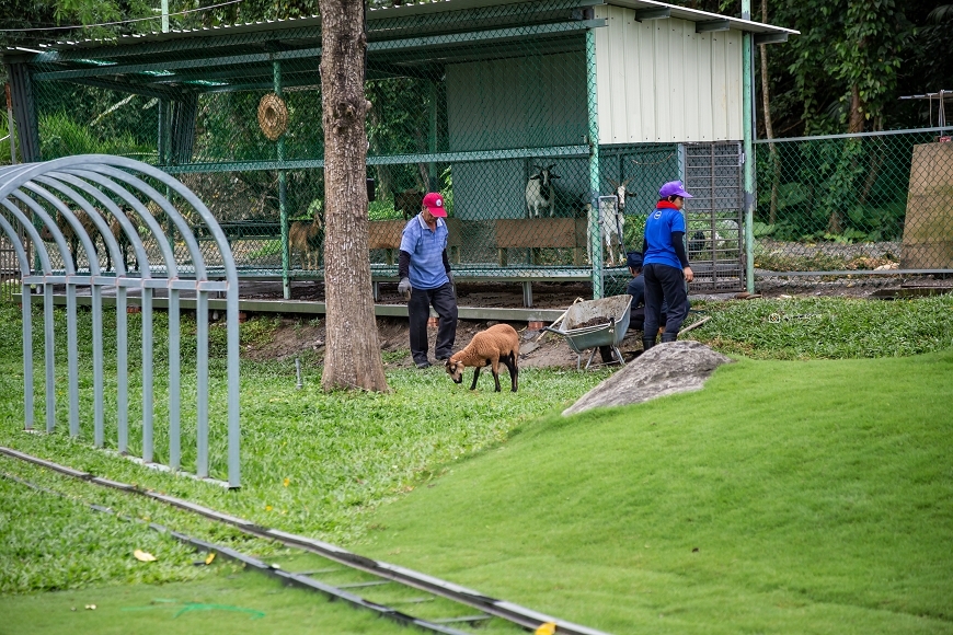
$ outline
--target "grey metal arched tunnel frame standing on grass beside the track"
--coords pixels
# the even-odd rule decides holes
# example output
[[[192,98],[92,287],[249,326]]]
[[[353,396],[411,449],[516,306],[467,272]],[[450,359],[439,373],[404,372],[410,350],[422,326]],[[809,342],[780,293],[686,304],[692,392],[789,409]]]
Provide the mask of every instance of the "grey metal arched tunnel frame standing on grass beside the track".
[[[218,263],[208,263],[203,255],[186,218],[200,223],[215,242]],[[184,254],[165,238],[161,222],[176,228],[184,243]],[[33,243],[35,264],[21,241],[21,232],[25,232]],[[180,307],[183,293],[194,295],[195,473],[199,477],[209,475],[210,446],[225,449],[228,483],[231,487],[239,487],[238,273],[226,234],[205,204],[182,183],[146,163],[102,154],[65,157],[46,163],[0,168],[0,234],[5,234],[8,244],[12,244],[20,272],[25,428],[33,428],[34,411],[39,404],[44,404],[41,407],[46,431],[53,432],[58,423],[56,402],[62,389],[56,380],[53,287],[62,285],[66,287],[66,409],[70,436],[79,437],[81,425],[77,304],[78,292],[82,291],[90,296],[92,313],[93,443],[99,448],[106,444],[108,425],[110,436],[112,429],[116,434],[115,440],[110,439],[110,444],[114,442],[114,447],[125,454],[129,451],[130,432],[136,432],[129,420],[126,315],[127,308],[136,305],[141,311],[141,458],[147,463],[154,461],[158,432],[158,436],[168,438],[167,464],[172,470],[182,469]],[[99,244],[102,244],[102,251],[97,250]],[[124,246],[131,247],[135,267],[127,266]],[[106,253],[112,266],[101,264]],[[61,269],[54,266],[57,259],[62,263]],[[210,279],[209,264],[220,267],[222,279]],[[41,292],[37,299],[43,307],[43,337],[39,340],[45,385],[38,391],[34,389],[32,287]],[[168,295],[169,307],[168,422],[156,420],[153,403],[152,307],[154,295],[160,289]],[[217,430],[209,426],[208,300],[215,292],[226,295],[227,309],[228,427],[227,434],[221,435],[225,438],[217,437]],[[104,293],[115,295],[115,326],[104,324]],[[127,299],[134,296],[138,296],[138,304],[127,303]],[[115,331],[115,380],[106,377],[104,368],[104,328]],[[116,391],[115,417],[111,415],[108,420],[104,401],[107,384],[115,385]],[[191,432],[191,426],[188,430]],[[192,454],[191,448],[188,453]]]

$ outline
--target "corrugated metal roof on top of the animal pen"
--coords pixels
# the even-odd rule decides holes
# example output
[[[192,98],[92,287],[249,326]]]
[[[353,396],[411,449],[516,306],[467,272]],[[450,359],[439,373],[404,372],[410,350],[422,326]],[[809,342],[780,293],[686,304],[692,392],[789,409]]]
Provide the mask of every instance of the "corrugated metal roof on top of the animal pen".
[[[524,2],[538,2],[539,0],[524,0]],[[437,0],[435,2],[406,3],[400,7],[391,7],[387,9],[371,9],[368,12],[367,20],[377,21],[394,18],[403,18],[409,15],[420,15],[428,13],[444,13],[448,11],[461,11],[467,9],[482,9],[489,7],[498,7],[504,4],[516,4],[514,0]],[[720,15],[717,13],[709,13],[707,11],[698,11],[694,9],[686,9],[675,4],[665,2],[655,2],[653,0],[593,0],[592,2],[583,2],[589,5],[611,4],[617,7],[627,7],[629,9],[645,10],[645,9],[667,9],[671,18],[688,20],[690,22],[711,22],[726,20],[730,28],[756,33],[756,34],[786,34],[799,35],[797,31],[753,22],[750,20],[740,20]],[[49,45],[41,45],[43,50],[70,50],[76,48],[94,48],[103,45],[128,46],[140,44],[143,42],[171,42],[176,39],[190,39],[200,37],[215,37],[228,35],[241,35],[245,33],[259,33],[262,31],[286,31],[294,28],[318,27],[321,25],[319,15],[307,18],[289,18],[287,20],[265,20],[260,22],[246,22],[243,24],[233,24],[228,26],[213,26],[192,30],[172,30],[168,33],[152,32],[147,34],[126,35],[116,39],[77,39],[64,41]],[[10,51],[26,51],[34,53],[32,49],[11,48]]]

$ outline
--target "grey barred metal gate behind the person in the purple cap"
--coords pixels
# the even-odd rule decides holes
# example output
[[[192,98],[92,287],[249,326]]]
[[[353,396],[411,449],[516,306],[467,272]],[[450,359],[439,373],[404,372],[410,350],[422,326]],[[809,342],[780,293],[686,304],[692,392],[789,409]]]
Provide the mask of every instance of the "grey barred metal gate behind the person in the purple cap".
[[[688,258],[692,291],[745,289],[742,145],[684,146]]]

